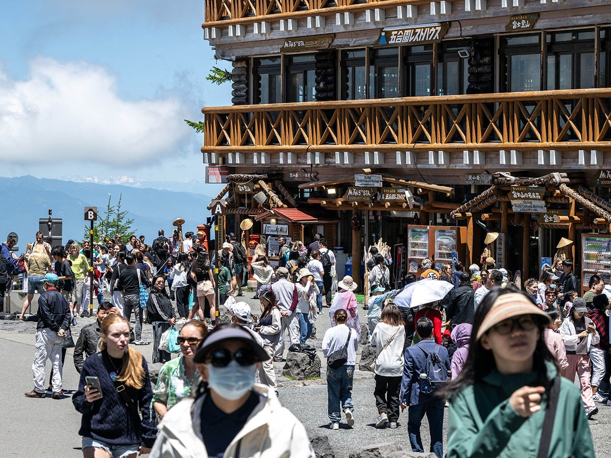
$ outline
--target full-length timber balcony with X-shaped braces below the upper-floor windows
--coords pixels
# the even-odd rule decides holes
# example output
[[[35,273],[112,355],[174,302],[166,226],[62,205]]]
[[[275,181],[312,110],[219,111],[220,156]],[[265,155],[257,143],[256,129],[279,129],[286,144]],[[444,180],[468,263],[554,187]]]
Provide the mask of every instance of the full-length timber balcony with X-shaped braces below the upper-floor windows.
[[[611,89],[205,107],[202,152],[609,150]]]

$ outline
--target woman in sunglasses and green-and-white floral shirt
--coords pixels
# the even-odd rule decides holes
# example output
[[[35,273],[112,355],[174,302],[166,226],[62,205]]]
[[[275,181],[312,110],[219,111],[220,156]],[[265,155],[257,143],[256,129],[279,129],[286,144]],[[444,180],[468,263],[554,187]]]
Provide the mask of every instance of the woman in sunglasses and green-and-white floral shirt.
[[[180,330],[178,343],[181,355],[161,368],[153,390],[153,408],[159,418],[163,418],[173,405],[191,394],[191,387],[199,377],[193,357],[207,335],[207,324],[199,320],[188,322]]]

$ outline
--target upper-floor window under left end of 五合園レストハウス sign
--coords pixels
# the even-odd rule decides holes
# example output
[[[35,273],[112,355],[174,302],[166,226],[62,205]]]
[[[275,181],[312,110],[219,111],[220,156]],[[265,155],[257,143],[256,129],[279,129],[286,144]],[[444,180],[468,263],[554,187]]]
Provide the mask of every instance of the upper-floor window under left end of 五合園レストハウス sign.
[[[371,50],[369,98],[399,96],[399,48]]]

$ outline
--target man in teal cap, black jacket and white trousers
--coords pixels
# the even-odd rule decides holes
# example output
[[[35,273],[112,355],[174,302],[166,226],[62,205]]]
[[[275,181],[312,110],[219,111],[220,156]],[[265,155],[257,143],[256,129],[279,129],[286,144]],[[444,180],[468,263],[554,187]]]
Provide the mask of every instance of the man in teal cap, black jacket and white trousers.
[[[62,343],[70,327],[68,301],[57,291],[56,274],[46,274],[43,280],[45,292],[38,298],[38,324],[36,326],[36,350],[34,352],[34,390],[25,393],[27,398],[45,397],[45,363],[53,365],[53,394],[60,399],[62,391]]]

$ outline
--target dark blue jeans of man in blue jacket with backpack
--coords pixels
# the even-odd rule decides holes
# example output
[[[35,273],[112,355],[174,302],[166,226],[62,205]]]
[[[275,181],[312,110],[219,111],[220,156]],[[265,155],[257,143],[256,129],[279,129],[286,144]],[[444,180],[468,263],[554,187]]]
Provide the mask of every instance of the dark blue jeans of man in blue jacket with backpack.
[[[431,448],[429,451],[436,454],[437,458],[443,458],[444,402],[439,401],[439,399],[430,399],[430,401],[422,402],[422,404],[409,406],[408,433],[412,451],[421,453],[424,451],[422,448],[422,438],[420,438],[420,423],[422,423],[425,413],[431,432]]]

